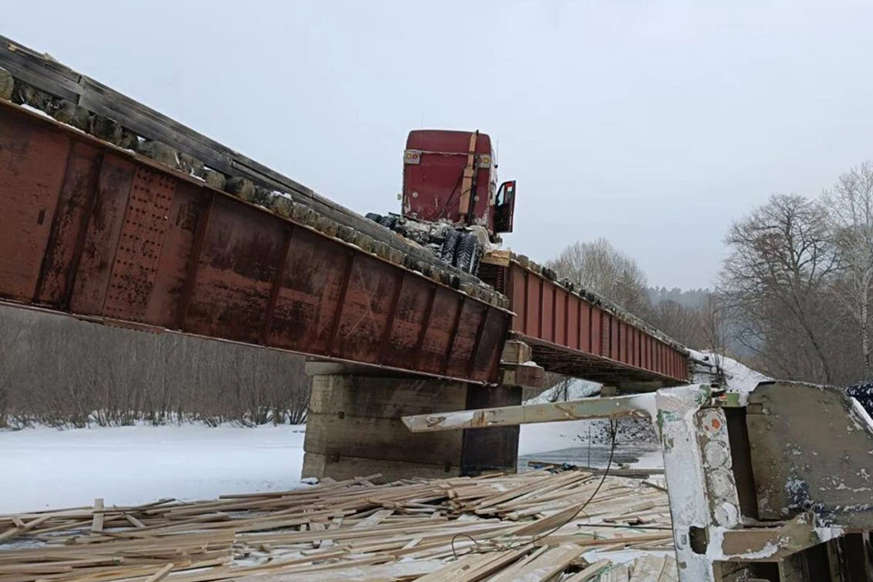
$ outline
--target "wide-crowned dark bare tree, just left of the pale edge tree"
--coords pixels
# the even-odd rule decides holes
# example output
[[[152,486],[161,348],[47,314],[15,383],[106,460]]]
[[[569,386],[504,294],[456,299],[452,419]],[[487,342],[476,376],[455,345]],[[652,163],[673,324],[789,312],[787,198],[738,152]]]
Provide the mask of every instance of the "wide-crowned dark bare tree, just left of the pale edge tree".
[[[821,297],[838,256],[825,208],[802,196],[772,196],[731,226],[726,243],[722,286],[744,344],[781,376],[831,383],[826,343],[834,322]]]

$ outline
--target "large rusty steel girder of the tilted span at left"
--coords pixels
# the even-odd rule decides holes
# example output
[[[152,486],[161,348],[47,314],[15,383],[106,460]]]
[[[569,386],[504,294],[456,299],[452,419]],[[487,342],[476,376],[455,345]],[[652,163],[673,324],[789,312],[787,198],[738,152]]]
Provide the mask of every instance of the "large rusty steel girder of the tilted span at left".
[[[0,299],[477,383],[512,314],[0,102]]]

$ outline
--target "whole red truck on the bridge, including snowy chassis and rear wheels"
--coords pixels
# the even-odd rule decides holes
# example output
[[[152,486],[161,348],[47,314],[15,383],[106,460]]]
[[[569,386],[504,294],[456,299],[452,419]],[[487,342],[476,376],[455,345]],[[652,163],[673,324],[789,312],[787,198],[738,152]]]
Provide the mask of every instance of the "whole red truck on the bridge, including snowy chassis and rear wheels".
[[[512,232],[516,181],[498,182],[491,137],[478,130],[410,131],[398,197],[399,213],[366,217],[471,275]]]

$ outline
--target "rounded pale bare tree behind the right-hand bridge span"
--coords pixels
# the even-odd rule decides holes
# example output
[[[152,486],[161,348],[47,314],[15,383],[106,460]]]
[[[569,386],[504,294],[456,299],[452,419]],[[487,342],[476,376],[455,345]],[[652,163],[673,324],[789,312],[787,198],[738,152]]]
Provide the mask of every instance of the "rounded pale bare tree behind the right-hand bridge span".
[[[637,316],[648,314],[646,274],[606,238],[567,246],[547,266],[559,277],[605,296]]]

